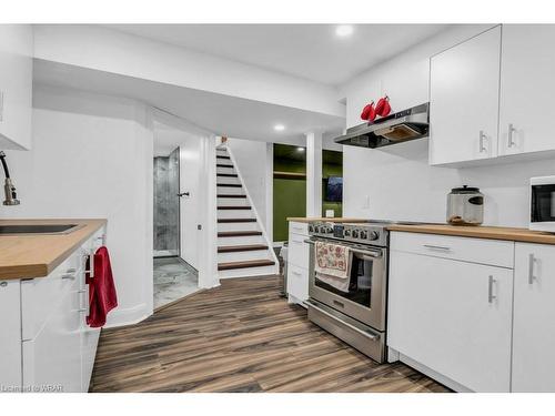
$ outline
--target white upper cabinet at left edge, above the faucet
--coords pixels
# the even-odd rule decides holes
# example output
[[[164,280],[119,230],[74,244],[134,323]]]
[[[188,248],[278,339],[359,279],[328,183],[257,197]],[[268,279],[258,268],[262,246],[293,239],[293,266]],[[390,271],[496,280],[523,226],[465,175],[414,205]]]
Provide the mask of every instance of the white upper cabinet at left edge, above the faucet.
[[[0,24],[0,150],[31,149],[33,32]]]

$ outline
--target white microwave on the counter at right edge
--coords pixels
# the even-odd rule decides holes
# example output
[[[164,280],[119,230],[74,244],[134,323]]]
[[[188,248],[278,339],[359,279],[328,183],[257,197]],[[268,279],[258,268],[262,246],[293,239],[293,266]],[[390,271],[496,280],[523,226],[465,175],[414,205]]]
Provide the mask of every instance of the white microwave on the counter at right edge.
[[[555,233],[555,176],[529,180],[529,229]]]

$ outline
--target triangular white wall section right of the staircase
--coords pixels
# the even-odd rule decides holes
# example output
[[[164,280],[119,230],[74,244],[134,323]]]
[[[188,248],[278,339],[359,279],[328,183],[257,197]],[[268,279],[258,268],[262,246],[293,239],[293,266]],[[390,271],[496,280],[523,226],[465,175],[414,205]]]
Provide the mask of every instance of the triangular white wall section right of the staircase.
[[[272,219],[268,216],[266,204],[268,194],[272,192],[272,184],[270,183],[272,177],[269,177],[268,170],[273,170],[273,159],[270,159],[268,146],[273,146],[273,143],[230,138],[228,139],[228,145],[235,156],[241,176],[243,176],[265,231],[271,232],[272,226],[268,221]],[[273,156],[273,153],[271,153],[271,156]]]

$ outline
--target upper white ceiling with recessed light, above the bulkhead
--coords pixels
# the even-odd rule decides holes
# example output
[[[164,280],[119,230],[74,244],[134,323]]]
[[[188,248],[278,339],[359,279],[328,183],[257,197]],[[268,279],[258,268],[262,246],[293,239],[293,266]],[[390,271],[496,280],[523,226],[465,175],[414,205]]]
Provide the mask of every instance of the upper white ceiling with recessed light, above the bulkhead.
[[[370,8],[369,3],[369,8]],[[371,10],[370,10],[371,11]],[[448,24],[110,24],[112,29],[329,85],[346,82]]]

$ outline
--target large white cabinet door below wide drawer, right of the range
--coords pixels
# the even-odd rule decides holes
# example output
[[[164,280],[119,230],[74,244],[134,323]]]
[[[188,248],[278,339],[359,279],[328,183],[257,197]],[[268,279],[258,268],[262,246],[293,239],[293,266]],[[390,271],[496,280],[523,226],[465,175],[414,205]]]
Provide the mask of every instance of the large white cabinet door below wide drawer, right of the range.
[[[389,342],[475,392],[508,392],[513,271],[392,252]]]

